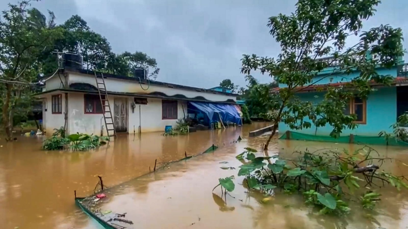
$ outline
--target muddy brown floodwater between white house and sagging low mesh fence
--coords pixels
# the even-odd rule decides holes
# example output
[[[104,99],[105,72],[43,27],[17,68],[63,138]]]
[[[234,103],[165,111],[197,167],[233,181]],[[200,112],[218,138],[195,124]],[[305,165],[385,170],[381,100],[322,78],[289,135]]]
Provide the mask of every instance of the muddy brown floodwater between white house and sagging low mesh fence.
[[[156,159],[159,166],[182,159],[185,153],[199,154],[212,144],[235,153],[232,142],[238,136],[246,138],[249,131],[268,125],[260,122],[177,137],[126,134],[91,152],[43,151],[44,137],[22,136],[12,143],[0,137],[0,228],[98,228],[74,202],[74,190],[77,196],[93,193],[98,175],[105,185],[114,186],[148,173],[149,167],[153,170]]]

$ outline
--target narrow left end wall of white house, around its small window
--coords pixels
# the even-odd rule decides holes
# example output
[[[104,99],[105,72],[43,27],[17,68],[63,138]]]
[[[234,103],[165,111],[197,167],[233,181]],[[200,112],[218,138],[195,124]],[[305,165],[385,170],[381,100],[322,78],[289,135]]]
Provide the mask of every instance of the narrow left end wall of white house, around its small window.
[[[62,114],[53,114],[52,113],[52,95],[44,95],[43,106],[42,106],[42,125],[47,134],[52,134],[54,129],[59,129],[61,126],[64,126],[64,112],[65,112],[65,94],[62,94]],[[58,95],[55,93],[53,95]],[[47,110],[47,111],[46,111]]]

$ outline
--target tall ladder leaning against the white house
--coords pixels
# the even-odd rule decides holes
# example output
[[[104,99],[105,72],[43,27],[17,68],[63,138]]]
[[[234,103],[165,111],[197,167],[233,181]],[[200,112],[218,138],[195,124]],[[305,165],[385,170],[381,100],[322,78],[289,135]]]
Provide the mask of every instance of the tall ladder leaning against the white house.
[[[98,79],[102,79],[102,81],[98,81]],[[112,116],[111,106],[109,104],[108,91],[106,90],[103,73],[101,73],[101,76],[98,76],[95,73],[95,81],[96,81],[96,88],[98,88],[99,99],[101,101],[102,109],[104,111],[102,112],[102,114],[103,114],[103,119],[105,120],[106,132],[108,133],[108,137],[116,137],[115,124],[113,123],[113,116]],[[99,85],[101,85],[101,87]],[[105,96],[105,99],[102,99],[102,94]],[[108,110],[106,110],[106,108],[108,108]],[[108,113],[110,117],[106,117],[106,113]],[[109,133],[109,131],[111,133]]]

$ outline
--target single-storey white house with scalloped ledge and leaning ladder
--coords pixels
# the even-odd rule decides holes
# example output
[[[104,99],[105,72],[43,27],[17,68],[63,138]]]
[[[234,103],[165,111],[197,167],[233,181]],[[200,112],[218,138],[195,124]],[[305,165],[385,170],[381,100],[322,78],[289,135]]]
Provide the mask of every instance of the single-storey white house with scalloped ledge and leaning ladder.
[[[43,91],[36,95],[43,100],[44,130],[52,133],[53,129],[65,126],[68,134],[80,132],[101,135],[102,132],[106,136],[103,112],[109,116],[107,113],[110,109],[116,132],[137,133],[139,126],[141,132],[164,131],[165,126],[174,127],[177,119],[186,117],[188,101],[236,103],[237,95],[228,92],[139,77],[107,73],[103,76],[108,94],[108,101],[103,102],[97,88],[103,88],[103,85],[97,85],[93,71],[65,68],[48,79]]]

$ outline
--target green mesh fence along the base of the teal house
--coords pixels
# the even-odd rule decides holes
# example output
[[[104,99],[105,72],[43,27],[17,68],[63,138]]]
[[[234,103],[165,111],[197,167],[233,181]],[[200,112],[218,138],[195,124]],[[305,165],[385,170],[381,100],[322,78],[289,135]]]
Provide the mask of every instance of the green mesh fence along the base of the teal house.
[[[286,135],[289,134],[289,137]],[[312,134],[302,134],[299,132],[287,131],[279,139],[290,139],[290,140],[303,140],[303,141],[324,141],[324,142],[335,142],[335,143],[355,143],[364,145],[397,145],[397,146],[408,146],[407,142],[399,141],[395,138],[388,139],[388,144],[384,137],[378,136],[341,136],[339,138],[333,138],[330,136],[319,136]]]

